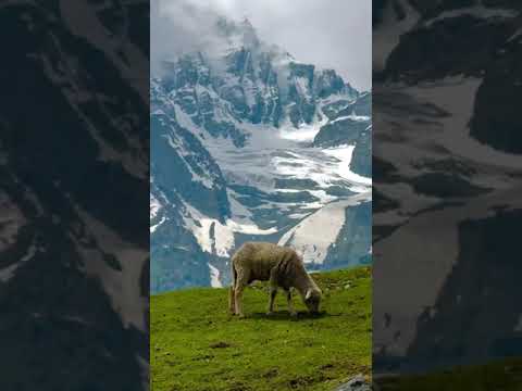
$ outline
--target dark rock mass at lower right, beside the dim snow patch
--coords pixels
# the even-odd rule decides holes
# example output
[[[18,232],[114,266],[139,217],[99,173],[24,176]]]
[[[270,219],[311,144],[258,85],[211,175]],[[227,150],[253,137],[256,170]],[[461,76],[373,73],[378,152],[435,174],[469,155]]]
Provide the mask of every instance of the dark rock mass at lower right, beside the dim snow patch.
[[[419,337],[409,354],[440,364],[448,356],[520,355],[521,305],[515,292],[522,265],[515,258],[521,217],[521,210],[500,210],[459,225],[458,261],[435,305],[419,317]]]

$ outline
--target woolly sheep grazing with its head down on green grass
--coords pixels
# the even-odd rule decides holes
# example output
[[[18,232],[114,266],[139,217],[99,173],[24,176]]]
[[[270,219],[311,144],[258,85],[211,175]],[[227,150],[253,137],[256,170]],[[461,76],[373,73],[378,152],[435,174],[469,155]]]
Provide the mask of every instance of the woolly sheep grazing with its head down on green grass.
[[[290,288],[296,288],[311,313],[319,312],[321,290],[304,269],[302,260],[290,249],[273,243],[247,242],[232,257],[232,287],[229,310],[244,317],[241,297],[247,285],[253,280],[270,280],[270,315],[274,310],[277,288],[286,291],[288,311],[296,315],[291,305]]]

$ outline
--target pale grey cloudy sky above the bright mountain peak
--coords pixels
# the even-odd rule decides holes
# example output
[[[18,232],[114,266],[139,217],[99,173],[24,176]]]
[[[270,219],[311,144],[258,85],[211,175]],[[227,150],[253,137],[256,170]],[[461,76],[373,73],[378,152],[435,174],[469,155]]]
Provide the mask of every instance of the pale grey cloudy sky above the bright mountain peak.
[[[170,20],[152,16],[152,62],[165,50],[181,51],[201,37],[210,36],[212,33],[207,26],[210,18],[201,15],[217,13],[235,20],[248,17],[266,43],[284,48],[299,61],[334,68],[359,90],[371,89],[370,0],[157,1],[161,1],[162,14],[169,14]],[[184,12],[187,3],[200,9],[200,16],[187,15]]]

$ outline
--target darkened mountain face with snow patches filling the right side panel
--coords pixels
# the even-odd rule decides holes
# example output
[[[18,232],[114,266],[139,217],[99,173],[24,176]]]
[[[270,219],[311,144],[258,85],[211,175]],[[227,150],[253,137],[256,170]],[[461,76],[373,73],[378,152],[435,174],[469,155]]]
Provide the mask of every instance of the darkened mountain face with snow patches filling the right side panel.
[[[520,4],[375,5],[374,371],[522,355]]]

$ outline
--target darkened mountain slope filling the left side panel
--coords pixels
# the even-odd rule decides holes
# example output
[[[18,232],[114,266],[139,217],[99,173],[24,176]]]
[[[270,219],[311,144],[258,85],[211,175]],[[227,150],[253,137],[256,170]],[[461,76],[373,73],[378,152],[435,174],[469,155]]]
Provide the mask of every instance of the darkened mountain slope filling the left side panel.
[[[1,5],[3,389],[147,388],[148,9]]]

